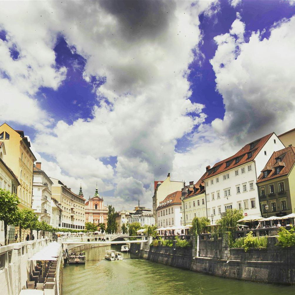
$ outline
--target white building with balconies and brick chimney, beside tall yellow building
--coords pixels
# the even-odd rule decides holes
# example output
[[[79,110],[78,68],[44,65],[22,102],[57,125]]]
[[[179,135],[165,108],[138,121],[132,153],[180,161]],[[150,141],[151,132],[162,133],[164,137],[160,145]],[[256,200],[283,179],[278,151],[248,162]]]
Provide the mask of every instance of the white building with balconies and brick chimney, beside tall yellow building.
[[[38,215],[39,221],[45,221],[47,224],[51,224],[51,185],[53,182],[41,170],[41,162],[36,162],[33,173],[32,209]]]

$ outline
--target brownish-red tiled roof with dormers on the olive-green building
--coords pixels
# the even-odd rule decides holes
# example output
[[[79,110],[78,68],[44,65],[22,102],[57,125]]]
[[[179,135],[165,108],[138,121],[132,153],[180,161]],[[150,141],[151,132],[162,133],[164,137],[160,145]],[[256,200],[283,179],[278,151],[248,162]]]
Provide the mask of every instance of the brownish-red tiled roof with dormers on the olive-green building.
[[[281,161],[277,162],[277,158],[281,158]],[[280,177],[283,175],[288,175],[291,171],[293,165],[295,163],[295,148],[293,146],[289,146],[282,150],[278,150],[274,152],[268,162],[266,163],[265,167],[261,171],[260,175],[258,176],[257,182],[260,183],[269,179],[273,179],[276,177]],[[279,174],[276,174],[276,167],[282,167]],[[266,178],[264,178],[263,171],[271,171]]]

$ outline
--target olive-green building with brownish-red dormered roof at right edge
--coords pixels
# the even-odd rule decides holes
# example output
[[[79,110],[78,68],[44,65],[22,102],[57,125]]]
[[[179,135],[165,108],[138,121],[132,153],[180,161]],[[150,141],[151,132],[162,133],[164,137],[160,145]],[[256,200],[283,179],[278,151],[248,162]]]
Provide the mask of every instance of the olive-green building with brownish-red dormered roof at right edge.
[[[274,152],[258,176],[262,216],[285,216],[295,212],[295,148]]]

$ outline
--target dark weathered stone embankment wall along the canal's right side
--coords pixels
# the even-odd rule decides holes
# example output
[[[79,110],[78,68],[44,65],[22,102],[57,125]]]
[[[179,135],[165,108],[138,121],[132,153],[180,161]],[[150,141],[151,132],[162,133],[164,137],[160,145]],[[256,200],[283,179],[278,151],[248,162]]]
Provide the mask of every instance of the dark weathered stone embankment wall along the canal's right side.
[[[130,252],[166,265],[190,269],[214,276],[263,283],[295,283],[295,247],[276,246],[276,237],[268,238],[268,248],[252,248],[248,252],[229,248],[223,240],[199,240],[195,247],[178,249],[150,246],[141,250],[131,245]],[[197,249],[197,250],[196,250]]]

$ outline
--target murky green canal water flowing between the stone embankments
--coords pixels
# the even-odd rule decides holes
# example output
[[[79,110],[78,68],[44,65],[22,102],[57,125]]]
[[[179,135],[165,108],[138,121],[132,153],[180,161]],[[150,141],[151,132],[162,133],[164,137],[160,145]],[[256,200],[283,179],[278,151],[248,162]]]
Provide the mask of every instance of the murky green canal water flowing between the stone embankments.
[[[87,294],[294,294],[295,287],[230,280],[173,268],[123,253],[122,261],[109,261],[110,247],[87,249],[85,265],[66,265],[63,295]],[[121,246],[112,246],[120,250]]]

